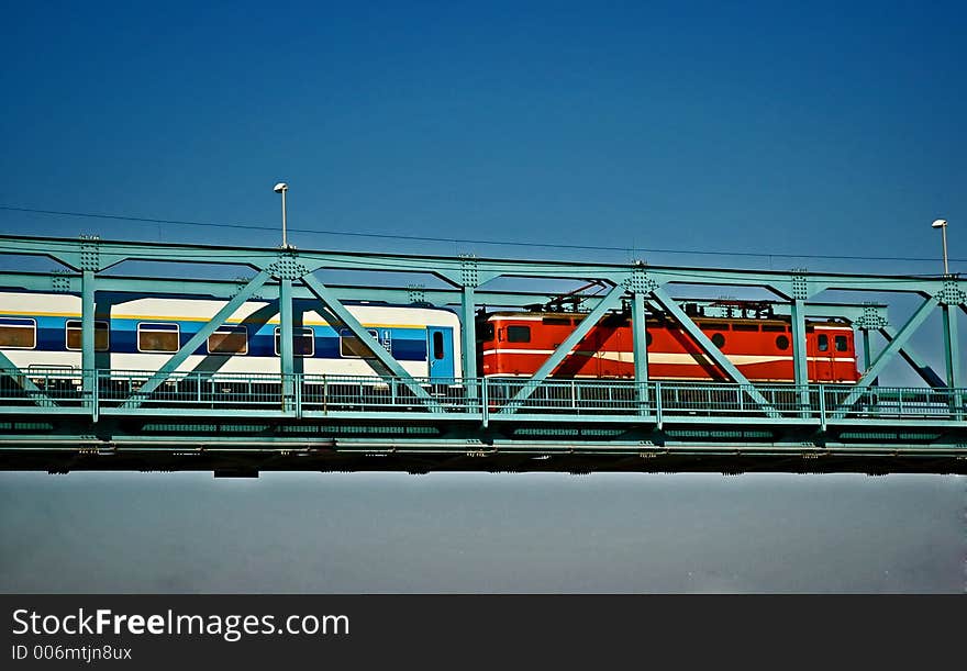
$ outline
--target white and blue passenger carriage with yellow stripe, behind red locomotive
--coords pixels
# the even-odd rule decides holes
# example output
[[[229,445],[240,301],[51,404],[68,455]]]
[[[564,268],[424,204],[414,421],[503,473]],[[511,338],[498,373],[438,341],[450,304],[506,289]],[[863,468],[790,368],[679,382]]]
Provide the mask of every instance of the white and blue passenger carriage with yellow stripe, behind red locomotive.
[[[123,301],[123,302],[120,302]],[[110,303],[111,301],[99,302]],[[98,367],[158,370],[225,301],[144,298],[99,305],[95,321]],[[347,328],[331,325],[319,302],[294,301],[297,370],[305,373],[376,376],[371,353]],[[79,370],[81,300],[76,295],[0,293],[0,350],[18,367]],[[279,372],[278,306],[244,303],[178,371]],[[432,307],[347,305],[369,334],[418,378],[460,377],[460,324],[456,314]]]

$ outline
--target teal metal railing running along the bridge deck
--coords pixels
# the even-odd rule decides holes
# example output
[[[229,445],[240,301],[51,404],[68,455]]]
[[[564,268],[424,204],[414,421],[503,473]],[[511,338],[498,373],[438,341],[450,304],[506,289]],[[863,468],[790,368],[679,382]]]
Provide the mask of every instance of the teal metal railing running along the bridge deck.
[[[967,389],[848,384],[740,385],[633,380],[438,379],[312,373],[175,372],[151,393],[152,371],[0,369],[0,413],[280,415],[429,413],[701,421],[964,421]],[[415,383],[415,384],[414,384]],[[759,399],[765,399],[763,404]]]

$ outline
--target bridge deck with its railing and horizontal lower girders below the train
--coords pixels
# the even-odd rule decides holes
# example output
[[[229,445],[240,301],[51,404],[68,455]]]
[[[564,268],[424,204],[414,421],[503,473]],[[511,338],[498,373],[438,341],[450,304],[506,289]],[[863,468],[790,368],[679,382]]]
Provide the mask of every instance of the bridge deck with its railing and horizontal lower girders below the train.
[[[191,372],[140,393],[151,374],[3,371],[3,468],[838,471],[844,459],[866,472],[967,467],[964,389],[870,387],[853,399],[849,385],[765,384],[755,387],[762,404],[732,383],[548,380],[515,403],[529,380],[419,379],[429,392],[420,398],[392,378],[293,373],[284,384],[279,374]]]

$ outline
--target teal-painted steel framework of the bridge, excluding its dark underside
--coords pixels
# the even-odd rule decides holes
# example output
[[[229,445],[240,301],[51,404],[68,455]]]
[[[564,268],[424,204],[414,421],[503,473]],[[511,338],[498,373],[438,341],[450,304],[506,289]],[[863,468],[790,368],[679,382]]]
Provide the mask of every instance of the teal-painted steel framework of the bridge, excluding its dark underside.
[[[2,454],[33,449],[24,448],[26,443],[47,445],[51,449],[74,446],[111,454],[111,446],[119,444],[151,444],[146,449],[166,450],[174,449],[167,445],[186,449],[186,445],[205,441],[237,452],[262,449],[259,446],[288,450],[299,440],[307,440],[304,448],[309,450],[323,445],[349,449],[345,446],[352,444],[360,450],[381,449],[379,446],[385,445],[386,454],[400,446],[416,451],[491,454],[520,449],[530,454],[537,436],[542,454],[570,446],[632,458],[637,452],[685,450],[686,446],[692,449],[699,445],[708,445],[709,454],[765,450],[778,455],[814,449],[824,455],[832,446],[842,454],[879,454],[877,450],[883,448],[869,446],[881,445],[910,455],[967,457],[967,391],[963,389],[956,318],[957,307],[967,312],[967,282],[956,276],[749,271],[637,262],[531,261],[25,236],[0,236],[0,255],[3,254],[48,257],[66,266],[67,270],[58,273],[0,271],[0,290],[80,297],[81,370],[19,370],[0,351]],[[181,264],[181,273],[189,277],[174,280],[123,276],[115,270],[110,275],[103,272],[132,260]],[[257,275],[246,281],[203,279],[190,277],[192,272],[184,270],[185,264],[242,267]],[[429,275],[440,278],[445,286],[385,286],[379,281],[323,284],[312,275],[318,270]],[[497,278],[513,280],[520,288],[497,290],[486,286]],[[527,280],[579,281],[583,288],[573,292],[571,298],[580,301],[590,314],[532,378],[477,378],[477,309],[527,309],[549,304],[559,295],[535,290]],[[792,323],[794,383],[751,384],[679,305],[687,300],[712,306],[714,301],[671,298],[686,284],[770,291],[778,300],[770,310],[777,315],[788,314]],[[611,289],[602,295],[593,294],[588,287]],[[278,373],[170,374],[256,290],[258,300],[279,304]],[[814,300],[826,290],[918,294],[925,302],[894,332],[889,326],[886,305]],[[212,298],[227,304],[160,370],[98,370],[95,322],[98,301],[108,293]],[[322,301],[374,353],[371,361],[377,376],[303,374],[293,348],[293,331],[300,323],[293,311],[294,300]],[[410,376],[384,347],[370,342],[368,332],[344,305],[346,301],[362,300],[454,310],[463,324],[460,378],[442,381]],[[624,301],[624,310],[630,311],[635,324],[635,379],[553,378],[553,371],[574,346]],[[910,346],[911,336],[938,304],[944,306],[946,379],[937,376]],[[645,342],[648,311],[660,311],[678,321],[733,382],[649,379]],[[865,361],[865,374],[858,384],[807,383],[807,317],[843,317],[859,329],[870,358]],[[886,348],[876,357],[871,357],[868,346],[869,332],[874,329],[887,340]],[[886,365],[898,355],[930,387],[875,385]]]

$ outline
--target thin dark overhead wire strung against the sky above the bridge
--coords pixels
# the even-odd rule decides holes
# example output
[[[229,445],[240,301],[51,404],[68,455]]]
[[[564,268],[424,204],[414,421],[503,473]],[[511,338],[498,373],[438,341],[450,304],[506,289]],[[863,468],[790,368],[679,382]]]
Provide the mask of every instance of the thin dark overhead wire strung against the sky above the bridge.
[[[246,223],[224,223],[224,222],[196,222],[175,219],[156,219],[147,216],[131,216],[126,214],[98,214],[92,212],[66,212],[62,210],[40,210],[35,208],[20,208],[15,205],[0,204],[0,210],[10,212],[26,212],[31,214],[46,214],[49,216],[69,216],[77,219],[103,219],[125,222],[142,222],[148,224],[171,224],[177,226],[209,226],[213,228],[236,228],[245,231],[267,231],[277,232],[277,226],[265,224],[246,224]],[[475,239],[462,237],[434,237],[420,235],[401,235],[390,233],[355,233],[346,231],[327,231],[324,228],[293,228],[288,227],[290,232],[309,233],[313,235],[333,235],[343,237],[364,237],[371,239],[396,239],[411,241],[419,243],[447,243],[459,245],[494,245],[500,247],[529,247],[529,248],[549,248],[549,249],[578,249],[593,251],[633,251],[647,254],[682,254],[694,256],[744,256],[756,258],[790,258],[790,259],[823,259],[823,260],[862,260],[862,261],[936,261],[935,258],[911,257],[911,256],[852,256],[852,255],[832,255],[832,254],[788,254],[771,251],[711,251],[707,249],[658,249],[645,248],[637,246],[608,246],[608,245],[569,245],[564,243],[527,243],[520,241],[493,241],[493,239]],[[963,262],[967,259],[952,258],[949,261]]]

